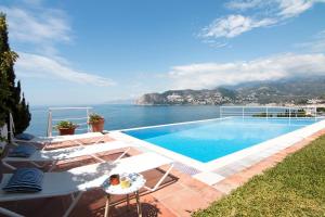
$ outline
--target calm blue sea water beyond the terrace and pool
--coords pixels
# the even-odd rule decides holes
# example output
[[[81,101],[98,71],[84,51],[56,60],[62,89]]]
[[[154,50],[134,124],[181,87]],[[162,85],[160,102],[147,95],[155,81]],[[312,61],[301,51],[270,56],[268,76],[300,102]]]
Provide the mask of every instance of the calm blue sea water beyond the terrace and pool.
[[[174,106],[140,106],[102,104],[90,105],[92,112],[105,117],[105,129],[126,129],[153,125],[171,124],[219,117],[219,106],[214,105],[174,105]],[[49,106],[31,106],[31,123],[27,132],[46,136]],[[83,117],[86,112],[54,112],[54,118]],[[78,120],[75,120],[77,124]],[[84,120],[79,120],[84,122]],[[79,129],[84,128],[80,126]],[[81,132],[81,131],[80,131]]]

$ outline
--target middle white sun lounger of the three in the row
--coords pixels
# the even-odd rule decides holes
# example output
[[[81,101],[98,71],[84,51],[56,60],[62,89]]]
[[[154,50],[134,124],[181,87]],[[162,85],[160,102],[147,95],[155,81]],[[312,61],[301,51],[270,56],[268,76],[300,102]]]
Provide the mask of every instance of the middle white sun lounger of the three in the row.
[[[80,146],[73,146],[73,148],[66,148],[66,149],[57,149],[57,150],[51,150],[51,151],[36,151],[31,156],[29,157],[10,157],[6,156],[2,158],[3,166],[6,166],[11,169],[16,169],[12,165],[12,163],[17,162],[26,162],[35,165],[36,167],[43,167],[47,163],[51,163],[51,167],[49,168],[49,171],[53,170],[57,164],[58,161],[64,159],[70,159],[75,157],[80,156],[91,156],[99,162],[103,163],[104,159],[98,157],[95,154],[101,152],[107,152],[107,151],[114,151],[118,149],[127,149],[117,159],[121,158],[123,155],[127,154],[127,152],[130,150],[130,146],[132,144],[121,142],[121,141],[112,141],[112,142],[105,142],[105,143],[95,143],[95,144],[89,144],[89,145],[80,145]]]

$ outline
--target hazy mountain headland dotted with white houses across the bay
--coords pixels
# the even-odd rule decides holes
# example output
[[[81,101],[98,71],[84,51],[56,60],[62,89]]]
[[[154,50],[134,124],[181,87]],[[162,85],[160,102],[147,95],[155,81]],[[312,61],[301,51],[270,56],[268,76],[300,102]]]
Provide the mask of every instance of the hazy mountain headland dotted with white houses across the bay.
[[[325,76],[291,77],[273,81],[244,82],[203,90],[168,90],[147,93],[135,103],[140,105],[174,104],[306,104],[308,100],[325,101]]]

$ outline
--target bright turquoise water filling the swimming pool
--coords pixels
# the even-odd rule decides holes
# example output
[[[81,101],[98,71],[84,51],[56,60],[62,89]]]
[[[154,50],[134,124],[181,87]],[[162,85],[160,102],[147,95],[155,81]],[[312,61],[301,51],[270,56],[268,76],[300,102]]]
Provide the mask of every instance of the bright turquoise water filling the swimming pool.
[[[314,119],[236,117],[130,130],[125,133],[207,163],[313,123]]]

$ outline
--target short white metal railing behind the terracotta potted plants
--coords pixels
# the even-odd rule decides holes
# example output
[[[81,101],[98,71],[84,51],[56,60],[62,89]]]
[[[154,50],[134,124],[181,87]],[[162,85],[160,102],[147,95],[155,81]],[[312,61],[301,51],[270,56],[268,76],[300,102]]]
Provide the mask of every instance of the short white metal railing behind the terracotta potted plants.
[[[77,122],[76,124],[78,126],[87,126],[86,128],[77,128],[76,130],[78,131],[91,131],[90,126],[88,125],[89,123],[89,115],[90,115],[90,110],[92,110],[92,107],[49,107],[49,114],[48,114],[48,130],[47,130],[47,136],[48,137],[52,137],[53,136],[53,123],[58,123],[62,120],[67,120],[67,122]],[[53,118],[53,114],[55,112],[66,112],[66,111],[84,111],[86,112],[86,116],[81,116],[81,117],[64,117],[64,118]],[[86,120],[86,122],[82,122]]]

